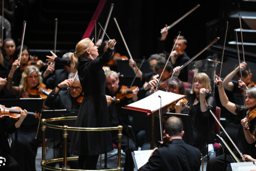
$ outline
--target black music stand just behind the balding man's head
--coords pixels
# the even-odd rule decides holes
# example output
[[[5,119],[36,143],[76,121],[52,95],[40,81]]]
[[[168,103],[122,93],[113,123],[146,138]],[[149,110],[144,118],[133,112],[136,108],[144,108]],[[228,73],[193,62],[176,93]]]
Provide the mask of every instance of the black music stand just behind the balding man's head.
[[[190,145],[195,144],[195,139],[193,135],[193,129],[192,129],[192,124],[191,124],[191,116],[188,114],[176,114],[176,113],[164,113],[163,117],[164,118],[169,118],[171,116],[176,116],[178,118],[181,118],[183,122],[183,131],[184,135],[182,139]]]

